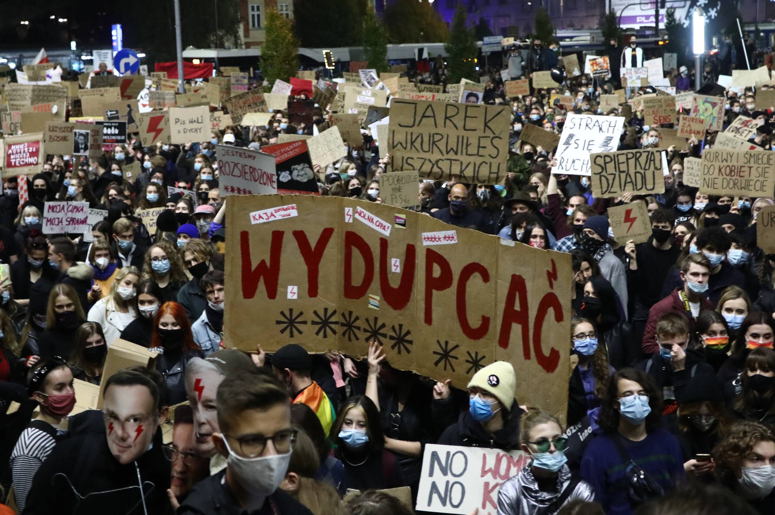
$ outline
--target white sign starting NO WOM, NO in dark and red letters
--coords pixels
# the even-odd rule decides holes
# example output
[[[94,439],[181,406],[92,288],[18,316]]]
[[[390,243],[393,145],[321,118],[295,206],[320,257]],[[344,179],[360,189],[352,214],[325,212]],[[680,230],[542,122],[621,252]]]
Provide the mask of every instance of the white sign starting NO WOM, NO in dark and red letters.
[[[524,451],[425,445],[415,510],[495,515],[501,483],[529,462]]]

